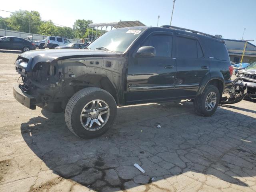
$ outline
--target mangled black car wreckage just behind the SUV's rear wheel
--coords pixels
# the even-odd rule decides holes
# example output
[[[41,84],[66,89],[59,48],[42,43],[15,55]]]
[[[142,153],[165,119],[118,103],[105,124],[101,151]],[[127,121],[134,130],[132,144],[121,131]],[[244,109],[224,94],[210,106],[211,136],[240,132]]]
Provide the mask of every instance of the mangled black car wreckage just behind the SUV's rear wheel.
[[[230,91],[222,95],[220,104],[234,104],[242,101],[247,95],[247,83],[238,77],[233,81]]]

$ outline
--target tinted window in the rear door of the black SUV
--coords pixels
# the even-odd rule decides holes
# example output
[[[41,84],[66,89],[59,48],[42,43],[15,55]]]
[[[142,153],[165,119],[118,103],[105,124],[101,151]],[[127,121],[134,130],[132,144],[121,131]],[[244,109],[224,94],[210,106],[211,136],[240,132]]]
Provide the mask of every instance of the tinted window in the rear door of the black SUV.
[[[197,40],[177,37],[177,58],[198,58],[197,51]],[[202,53],[200,54],[202,56]]]

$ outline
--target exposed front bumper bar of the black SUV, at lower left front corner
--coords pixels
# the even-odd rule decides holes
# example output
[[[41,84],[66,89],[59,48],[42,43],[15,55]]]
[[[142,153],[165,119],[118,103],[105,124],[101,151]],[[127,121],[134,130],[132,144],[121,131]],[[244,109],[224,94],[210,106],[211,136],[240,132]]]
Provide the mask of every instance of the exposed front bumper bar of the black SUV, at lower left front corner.
[[[14,98],[22,105],[30,109],[36,109],[36,98],[22,92],[17,84],[13,85],[12,92]]]

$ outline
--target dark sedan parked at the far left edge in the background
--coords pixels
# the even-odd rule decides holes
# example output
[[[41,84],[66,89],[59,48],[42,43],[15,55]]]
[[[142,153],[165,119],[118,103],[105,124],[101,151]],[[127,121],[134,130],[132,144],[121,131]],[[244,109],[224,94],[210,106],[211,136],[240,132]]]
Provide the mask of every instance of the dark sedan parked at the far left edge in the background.
[[[35,44],[20,37],[0,37],[0,49],[20,50],[22,52],[35,50]]]

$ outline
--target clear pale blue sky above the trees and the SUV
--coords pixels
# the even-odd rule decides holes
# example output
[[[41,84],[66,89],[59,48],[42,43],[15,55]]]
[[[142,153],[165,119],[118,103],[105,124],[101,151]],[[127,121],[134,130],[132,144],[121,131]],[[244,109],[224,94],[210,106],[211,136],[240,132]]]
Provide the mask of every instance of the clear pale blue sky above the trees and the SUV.
[[[72,27],[76,19],[98,22],[140,20],[170,24],[172,0],[8,0],[2,10],[36,10],[42,19]],[[0,11],[0,16],[9,16]],[[256,0],[176,0],[172,25],[256,44]]]

